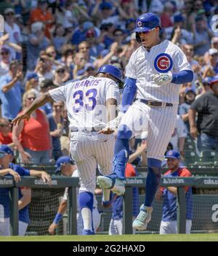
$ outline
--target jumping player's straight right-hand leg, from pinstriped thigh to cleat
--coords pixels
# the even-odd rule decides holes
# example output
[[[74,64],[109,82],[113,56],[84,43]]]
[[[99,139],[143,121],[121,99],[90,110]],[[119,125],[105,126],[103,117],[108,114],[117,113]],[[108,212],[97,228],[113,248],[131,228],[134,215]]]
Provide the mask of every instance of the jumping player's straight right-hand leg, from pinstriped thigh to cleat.
[[[133,222],[133,228],[145,230],[151,219],[152,203],[161,182],[161,163],[176,123],[177,108],[151,108],[148,128],[148,176],[145,203]]]

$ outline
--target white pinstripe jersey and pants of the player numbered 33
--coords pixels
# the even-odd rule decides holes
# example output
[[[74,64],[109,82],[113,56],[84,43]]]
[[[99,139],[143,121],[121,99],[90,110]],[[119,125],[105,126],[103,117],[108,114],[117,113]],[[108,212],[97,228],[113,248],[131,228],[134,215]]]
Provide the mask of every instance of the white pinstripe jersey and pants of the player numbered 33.
[[[107,123],[105,103],[109,98],[120,101],[118,85],[112,79],[88,77],[49,90],[54,101],[65,101],[70,121],[70,153],[78,167],[81,191],[94,193],[96,167],[110,174],[114,136],[98,134]],[[95,131],[94,131],[95,130]],[[107,157],[105,157],[107,156]]]

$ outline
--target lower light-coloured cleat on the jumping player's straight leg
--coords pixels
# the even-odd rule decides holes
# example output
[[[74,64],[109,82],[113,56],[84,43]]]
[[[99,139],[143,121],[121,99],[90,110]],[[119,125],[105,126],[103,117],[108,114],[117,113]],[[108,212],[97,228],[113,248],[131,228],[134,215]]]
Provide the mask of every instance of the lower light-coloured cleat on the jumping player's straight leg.
[[[150,222],[151,219],[151,212],[152,208],[148,209],[147,206],[142,204],[140,207],[140,214],[132,223],[132,228],[134,228],[135,230],[146,230],[148,222]]]

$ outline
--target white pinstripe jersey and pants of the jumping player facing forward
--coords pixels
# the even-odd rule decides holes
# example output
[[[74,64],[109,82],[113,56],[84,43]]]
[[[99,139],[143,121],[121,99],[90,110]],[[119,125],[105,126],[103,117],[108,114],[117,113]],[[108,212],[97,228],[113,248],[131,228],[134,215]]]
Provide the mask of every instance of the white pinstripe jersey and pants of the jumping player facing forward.
[[[148,52],[138,48],[126,66],[126,77],[137,79],[136,101],[129,106],[121,125],[132,129],[132,135],[148,131],[148,158],[163,160],[177,120],[179,86],[172,83],[156,85],[151,74],[191,70],[185,54],[168,40],[153,46]],[[143,100],[159,101],[171,106],[148,106]],[[139,121],[140,120],[140,121]]]

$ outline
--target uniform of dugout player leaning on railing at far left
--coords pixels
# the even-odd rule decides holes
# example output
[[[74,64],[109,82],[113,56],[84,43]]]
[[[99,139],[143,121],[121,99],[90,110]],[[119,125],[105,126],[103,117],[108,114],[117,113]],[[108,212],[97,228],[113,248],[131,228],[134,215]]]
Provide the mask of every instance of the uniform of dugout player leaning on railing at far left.
[[[9,163],[9,168],[16,171],[20,176],[30,176],[30,171],[23,167],[17,166],[13,163]],[[10,176],[7,174],[6,176]],[[19,188],[19,199],[22,198],[22,189]],[[10,236],[10,209],[9,209],[9,189],[1,188],[0,189],[0,236]],[[29,213],[28,213],[28,206],[25,206],[23,209],[19,211],[19,229],[18,234],[19,236],[24,236],[25,231],[28,228],[29,220]]]

